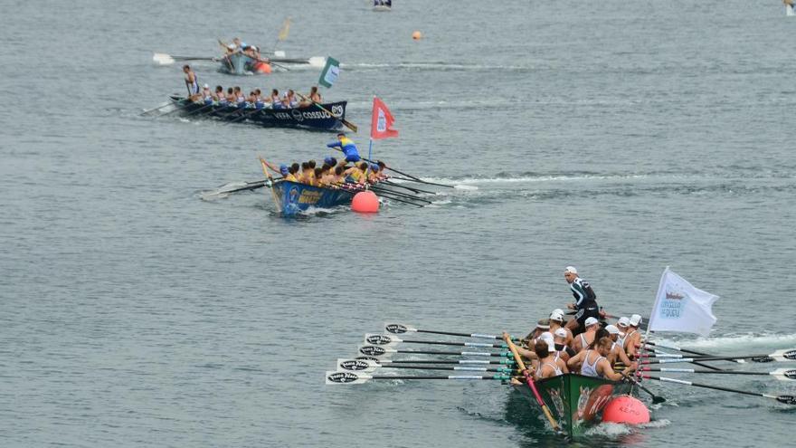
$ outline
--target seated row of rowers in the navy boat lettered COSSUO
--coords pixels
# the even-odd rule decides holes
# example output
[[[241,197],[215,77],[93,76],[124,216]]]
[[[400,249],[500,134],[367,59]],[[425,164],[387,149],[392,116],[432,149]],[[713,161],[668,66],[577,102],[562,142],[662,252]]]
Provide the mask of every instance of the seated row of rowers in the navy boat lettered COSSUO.
[[[239,108],[254,108],[254,109],[293,109],[297,107],[307,107],[314,102],[322,102],[320,93],[317,91],[316,86],[312,86],[307,100],[299,100],[296,92],[292,89],[285,91],[280,95],[280,91],[273,89],[270,95],[265,96],[260,89],[250,91],[249,94],[244,94],[240,87],[229,87],[224,91],[222,86],[215,86],[215,91],[210,90],[210,86],[204,84],[202,91],[194,97],[196,102],[204,102],[205,105],[228,106],[235,105]]]

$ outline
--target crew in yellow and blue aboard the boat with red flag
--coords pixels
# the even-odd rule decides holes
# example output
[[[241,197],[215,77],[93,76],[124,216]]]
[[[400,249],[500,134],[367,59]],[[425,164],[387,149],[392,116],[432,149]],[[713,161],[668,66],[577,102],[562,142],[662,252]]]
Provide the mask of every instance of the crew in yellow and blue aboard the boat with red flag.
[[[327,147],[339,148],[346,157],[339,161],[335,157],[326,157],[320,167],[315,160],[289,166],[283,164],[280,167],[266,163],[266,166],[287,181],[308,186],[372,185],[387,177],[384,162],[368,163],[362,160],[354,142],[345,133],[337,134],[337,141],[327,144]]]

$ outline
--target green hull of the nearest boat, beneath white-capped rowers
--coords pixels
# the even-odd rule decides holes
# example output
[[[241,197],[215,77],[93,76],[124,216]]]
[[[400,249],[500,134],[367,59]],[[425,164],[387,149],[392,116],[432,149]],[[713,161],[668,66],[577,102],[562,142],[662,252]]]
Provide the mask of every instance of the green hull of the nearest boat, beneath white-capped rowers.
[[[602,421],[602,408],[615,396],[630,394],[630,383],[609,381],[598,377],[565,374],[535,382],[556,422],[570,437],[583,435],[593,424]],[[531,405],[538,408],[527,385],[514,386]]]

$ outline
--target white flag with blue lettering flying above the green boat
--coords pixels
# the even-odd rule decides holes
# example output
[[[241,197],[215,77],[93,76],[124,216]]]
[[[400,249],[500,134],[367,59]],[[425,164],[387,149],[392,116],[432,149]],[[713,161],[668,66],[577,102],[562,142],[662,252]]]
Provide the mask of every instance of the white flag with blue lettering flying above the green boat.
[[[707,336],[715,324],[713,302],[718,296],[695,288],[678,274],[664,270],[649,316],[649,331],[678,331]]]

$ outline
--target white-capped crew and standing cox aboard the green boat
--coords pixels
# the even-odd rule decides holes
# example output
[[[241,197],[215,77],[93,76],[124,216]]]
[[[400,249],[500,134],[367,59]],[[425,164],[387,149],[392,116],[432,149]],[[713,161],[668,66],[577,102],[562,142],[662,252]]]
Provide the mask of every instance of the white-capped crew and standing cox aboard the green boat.
[[[517,351],[531,361],[528,373],[536,379],[569,372],[613,381],[629,376],[638,367],[641,316],[622,317],[616,325],[603,328],[600,319],[604,313],[598,310],[589,283],[578,277],[573,266],[566,267],[564,279],[576,300],[569,306],[575,311],[574,318],[567,321],[564,310],[553,310],[548,319],[539,320],[536,328],[522,339]],[[621,371],[615,368],[618,363]]]

